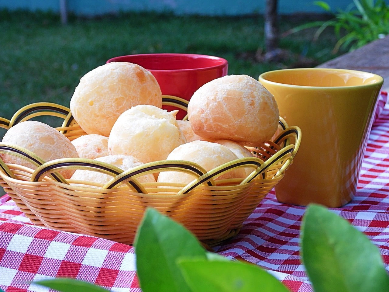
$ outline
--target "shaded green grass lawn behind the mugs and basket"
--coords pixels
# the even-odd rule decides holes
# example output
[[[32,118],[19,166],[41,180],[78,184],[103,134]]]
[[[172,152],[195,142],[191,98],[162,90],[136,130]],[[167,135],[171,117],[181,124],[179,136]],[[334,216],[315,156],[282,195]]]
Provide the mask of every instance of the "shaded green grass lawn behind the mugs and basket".
[[[280,18],[280,32],[305,18]],[[140,53],[199,53],[226,58],[228,74],[258,78],[286,67],[313,67],[334,58],[331,33],[312,42],[314,30],[289,35],[290,51],[280,63],[256,61],[263,47],[263,18],[174,16],[128,13],[98,19],[71,17],[68,25],[51,13],[0,11],[0,116],[11,118],[32,102],[68,106],[75,86],[91,69],[114,56]],[[300,60],[300,56],[306,59]]]

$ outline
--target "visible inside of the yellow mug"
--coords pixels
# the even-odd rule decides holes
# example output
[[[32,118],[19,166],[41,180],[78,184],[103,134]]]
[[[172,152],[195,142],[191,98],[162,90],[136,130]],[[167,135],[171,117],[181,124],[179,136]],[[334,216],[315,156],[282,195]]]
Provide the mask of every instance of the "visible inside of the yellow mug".
[[[261,78],[274,83],[308,87],[361,86],[382,81],[382,77],[368,72],[320,68],[269,71],[261,74]]]

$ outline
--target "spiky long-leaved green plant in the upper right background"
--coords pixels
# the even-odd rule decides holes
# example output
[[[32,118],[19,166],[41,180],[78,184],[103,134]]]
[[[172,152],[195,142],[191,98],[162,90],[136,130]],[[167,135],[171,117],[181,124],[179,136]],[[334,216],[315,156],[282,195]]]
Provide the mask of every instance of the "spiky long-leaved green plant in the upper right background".
[[[334,17],[328,21],[313,21],[297,26],[284,33],[284,36],[318,27],[314,35],[314,40],[317,40],[326,28],[332,27],[338,39],[333,49],[336,53],[343,49],[353,51],[389,34],[389,5],[385,0],[353,0],[349,9],[339,9],[335,13],[331,12],[327,2],[315,1],[314,4]]]

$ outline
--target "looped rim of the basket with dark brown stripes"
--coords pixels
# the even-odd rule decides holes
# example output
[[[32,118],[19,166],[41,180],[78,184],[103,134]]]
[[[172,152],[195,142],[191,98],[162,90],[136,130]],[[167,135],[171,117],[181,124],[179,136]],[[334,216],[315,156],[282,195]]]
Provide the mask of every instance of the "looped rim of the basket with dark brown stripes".
[[[182,108],[187,107],[187,104],[189,103],[188,100],[172,95],[163,95],[163,102],[168,104],[176,104]],[[61,129],[63,129],[63,127],[69,128],[71,123],[74,121],[70,109],[68,107],[51,102],[36,102],[19,109],[19,111],[17,111],[14,116],[12,116],[11,120],[0,118],[0,127],[5,126],[7,124],[7,121],[9,121],[7,126],[12,127],[16,123],[24,121],[28,118],[47,114],[61,116],[62,118],[64,118],[63,125],[62,127],[60,127]],[[187,116],[185,118],[187,118]],[[2,121],[4,123],[2,123]],[[51,179],[63,183],[64,185],[68,185],[67,179],[63,178],[63,176],[61,176],[58,171],[63,169],[78,169],[79,167],[88,169],[95,168],[93,170],[97,169],[98,171],[101,171],[106,174],[113,174],[113,178],[110,179],[110,181],[103,186],[104,189],[115,188],[121,183],[126,183],[136,192],[145,193],[145,189],[142,183],[139,183],[137,178],[145,174],[157,172],[157,170],[167,171],[167,169],[164,167],[170,167],[168,170],[174,169],[175,171],[183,171],[196,175],[196,179],[194,179],[191,183],[187,184],[186,187],[182,189],[182,192],[190,192],[197,186],[202,185],[203,183],[207,183],[207,185],[209,186],[215,186],[216,184],[214,178],[217,175],[220,175],[226,171],[238,167],[254,168],[251,174],[249,174],[246,178],[242,179],[241,183],[248,183],[251,180],[257,179],[259,177],[259,174],[262,174],[261,179],[265,179],[266,170],[272,166],[272,163],[277,163],[279,160],[282,160],[282,157],[284,157],[284,155],[289,155],[289,157],[286,158],[287,161],[281,166],[275,176],[279,176],[280,174],[282,174],[292,163],[294,155],[296,155],[298,151],[301,142],[301,129],[297,126],[289,127],[287,125],[287,122],[282,117],[279,117],[279,127],[282,129],[282,132],[277,137],[275,137],[274,142],[268,141],[263,143],[263,145],[265,146],[267,143],[267,147],[269,149],[266,150],[265,148],[263,148],[265,149],[267,155],[271,158],[268,162],[266,162],[267,160],[265,159],[265,156],[238,158],[231,162],[220,165],[219,167],[216,167],[208,172],[200,165],[186,160],[160,160],[157,162],[149,162],[146,164],[139,165],[138,167],[135,167],[130,171],[123,171],[122,169],[119,169],[114,165],[86,158],[60,158],[56,160],[51,160],[49,162],[44,162],[44,160],[35,155],[35,153],[28,151],[23,147],[15,146],[5,142],[0,142],[0,153],[16,155],[25,160],[33,162],[33,164],[37,166],[37,169],[35,169],[35,171],[32,170],[32,181],[40,180],[42,177],[49,175]],[[61,130],[61,132],[65,131],[67,130]],[[289,137],[291,136],[294,137],[294,143],[291,143],[289,141]],[[278,143],[283,143],[283,145],[279,145]],[[265,147],[263,145],[261,147]],[[280,149],[274,148],[275,146],[279,146]],[[258,147],[254,149],[259,150]],[[272,152],[270,152],[270,150],[272,149],[274,150],[273,154]],[[5,175],[11,178],[15,178],[13,176],[12,171],[9,169],[7,164],[4,163],[1,157],[0,169],[2,172],[4,172]]]

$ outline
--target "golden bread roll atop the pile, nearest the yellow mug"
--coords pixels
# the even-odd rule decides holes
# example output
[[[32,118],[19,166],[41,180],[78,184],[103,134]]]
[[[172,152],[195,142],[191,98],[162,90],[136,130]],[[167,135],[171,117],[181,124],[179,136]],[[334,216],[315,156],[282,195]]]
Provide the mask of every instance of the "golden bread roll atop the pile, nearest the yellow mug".
[[[191,97],[188,119],[208,139],[259,146],[277,130],[279,110],[273,95],[247,75],[228,75],[201,86]]]

